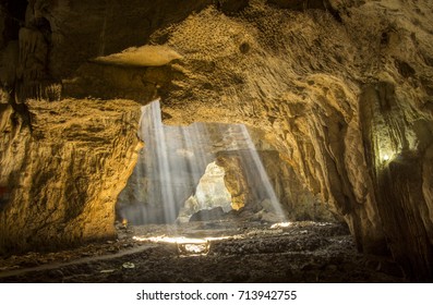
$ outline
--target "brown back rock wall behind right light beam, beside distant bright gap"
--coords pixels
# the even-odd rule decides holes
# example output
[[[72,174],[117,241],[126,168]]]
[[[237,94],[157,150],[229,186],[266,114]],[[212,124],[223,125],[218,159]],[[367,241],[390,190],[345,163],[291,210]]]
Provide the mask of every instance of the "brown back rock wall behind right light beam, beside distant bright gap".
[[[309,192],[293,169],[280,159],[278,151],[258,150],[257,157],[266,171],[280,210],[269,205],[269,194],[266,193],[263,179],[255,168],[252,151],[220,151],[216,155],[216,163],[225,170],[224,179],[231,195],[233,209],[242,208],[240,213],[243,217],[245,213],[255,213],[253,217],[260,217],[261,211],[264,210],[265,213],[282,213],[279,219],[290,221],[337,220],[329,211],[330,207],[321,203],[318,196]],[[263,220],[266,218],[264,217]]]

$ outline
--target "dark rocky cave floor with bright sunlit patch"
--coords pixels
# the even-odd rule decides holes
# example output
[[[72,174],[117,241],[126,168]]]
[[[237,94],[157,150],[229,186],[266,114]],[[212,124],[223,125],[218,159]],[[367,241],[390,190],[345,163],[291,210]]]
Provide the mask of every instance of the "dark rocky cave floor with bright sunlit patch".
[[[118,239],[0,258],[0,282],[405,282],[384,257],[357,252],[338,223],[251,221],[117,224]],[[156,236],[214,237],[205,255]],[[205,246],[203,246],[205,247]],[[203,248],[202,248],[203,249]]]

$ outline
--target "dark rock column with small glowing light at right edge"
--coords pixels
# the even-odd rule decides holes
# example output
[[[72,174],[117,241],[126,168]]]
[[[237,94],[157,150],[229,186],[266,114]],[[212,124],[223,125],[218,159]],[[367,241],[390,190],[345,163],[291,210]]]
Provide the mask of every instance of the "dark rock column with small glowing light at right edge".
[[[365,126],[366,162],[374,169],[372,179],[381,203],[377,210],[390,236],[388,246],[407,270],[425,270],[428,274],[433,255],[432,205],[423,188],[433,184],[431,172],[423,167],[433,161],[429,152],[433,125],[408,109],[407,101],[417,97],[398,89],[389,80],[363,87],[360,117]]]

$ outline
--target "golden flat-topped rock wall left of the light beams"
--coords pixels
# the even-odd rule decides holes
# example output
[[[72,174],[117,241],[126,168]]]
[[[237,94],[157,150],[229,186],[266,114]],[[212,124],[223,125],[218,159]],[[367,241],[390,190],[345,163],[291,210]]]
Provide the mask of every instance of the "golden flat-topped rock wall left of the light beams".
[[[115,236],[116,199],[136,160],[140,105],[27,103],[31,127],[15,122],[11,107],[1,118],[1,253]]]

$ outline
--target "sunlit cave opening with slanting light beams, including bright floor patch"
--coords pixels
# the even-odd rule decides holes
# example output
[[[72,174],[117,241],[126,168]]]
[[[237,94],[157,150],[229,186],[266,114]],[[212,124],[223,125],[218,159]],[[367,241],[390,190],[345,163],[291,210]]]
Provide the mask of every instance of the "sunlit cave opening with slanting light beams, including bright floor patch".
[[[159,100],[142,108],[137,163],[116,205],[120,230],[136,241],[207,254],[240,228],[285,230],[336,222],[260,131],[243,124],[165,125]],[[238,232],[238,233],[237,233]]]

